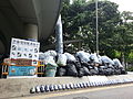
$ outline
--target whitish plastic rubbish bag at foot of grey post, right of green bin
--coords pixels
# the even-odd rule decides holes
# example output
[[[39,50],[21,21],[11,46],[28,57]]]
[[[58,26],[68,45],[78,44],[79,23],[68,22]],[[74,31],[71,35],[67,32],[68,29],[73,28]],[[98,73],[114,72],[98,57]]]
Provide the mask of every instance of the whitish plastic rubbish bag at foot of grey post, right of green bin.
[[[57,64],[59,66],[65,66],[66,65],[66,56],[64,54],[59,54]]]

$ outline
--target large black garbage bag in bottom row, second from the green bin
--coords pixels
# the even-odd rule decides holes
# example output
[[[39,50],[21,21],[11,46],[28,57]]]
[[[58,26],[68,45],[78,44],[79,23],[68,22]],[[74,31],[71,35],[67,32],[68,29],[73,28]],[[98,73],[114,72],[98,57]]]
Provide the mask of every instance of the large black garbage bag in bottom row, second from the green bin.
[[[68,76],[74,76],[74,77],[78,76],[78,70],[76,70],[74,64],[68,64],[66,65],[66,75]]]

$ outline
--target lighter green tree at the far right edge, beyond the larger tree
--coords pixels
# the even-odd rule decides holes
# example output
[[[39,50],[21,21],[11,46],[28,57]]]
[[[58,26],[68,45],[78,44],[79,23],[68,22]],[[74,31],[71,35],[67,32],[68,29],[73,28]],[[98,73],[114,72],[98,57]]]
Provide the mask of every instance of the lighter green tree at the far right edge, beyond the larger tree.
[[[131,62],[130,55],[133,52],[133,13],[123,11],[121,19],[123,21],[116,26],[116,32],[113,35],[115,42],[114,48],[121,52],[121,58],[126,63]]]

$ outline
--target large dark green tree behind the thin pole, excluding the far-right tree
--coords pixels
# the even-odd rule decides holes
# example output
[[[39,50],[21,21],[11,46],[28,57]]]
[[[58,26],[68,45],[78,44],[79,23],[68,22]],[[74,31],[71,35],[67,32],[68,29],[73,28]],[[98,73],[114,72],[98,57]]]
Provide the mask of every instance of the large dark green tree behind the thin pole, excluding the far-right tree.
[[[73,4],[63,4],[62,20],[64,40],[83,40],[82,46],[95,51],[95,2],[74,0]],[[100,51],[105,54],[112,48],[112,35],[120,24],[117,4],[99,1]],[[75,45],[75,47],[78,47]]]

